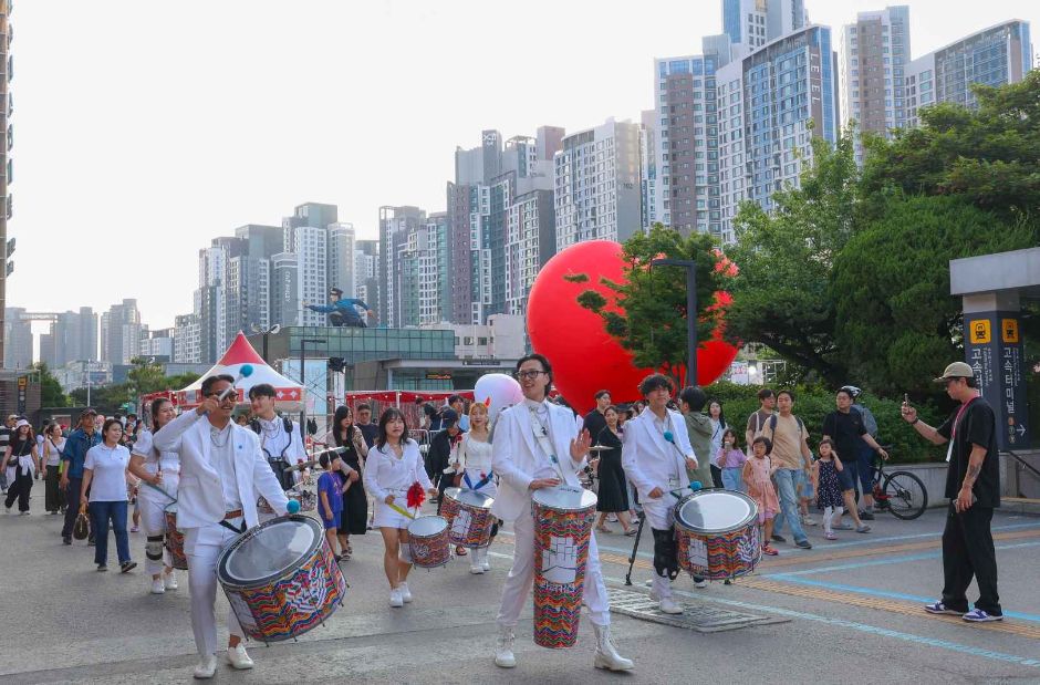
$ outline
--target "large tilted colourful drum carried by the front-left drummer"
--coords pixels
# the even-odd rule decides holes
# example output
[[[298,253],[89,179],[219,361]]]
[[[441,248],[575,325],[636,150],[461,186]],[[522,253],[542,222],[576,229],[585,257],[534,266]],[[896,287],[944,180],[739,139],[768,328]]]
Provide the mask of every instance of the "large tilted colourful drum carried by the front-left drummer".
[[[346,580],[321,523],[283,516],[243,532],[217,560],[217,579],[247,637],[298,637],[332,615]]]

